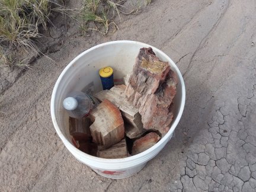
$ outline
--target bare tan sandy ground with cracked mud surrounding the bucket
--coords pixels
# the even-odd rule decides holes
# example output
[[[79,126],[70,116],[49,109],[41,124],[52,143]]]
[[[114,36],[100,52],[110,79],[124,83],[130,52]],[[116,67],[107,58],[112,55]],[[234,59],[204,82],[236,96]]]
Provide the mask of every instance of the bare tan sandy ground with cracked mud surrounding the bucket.
[[[255,0],[158,0],[107,37],[69,36],[0,98],[0,191],[255,191]],[[187,99],[175,137],[142,171],[103,178],[76,161],[50,117],[53,86],[79,53],[110,40],[158,47]]]

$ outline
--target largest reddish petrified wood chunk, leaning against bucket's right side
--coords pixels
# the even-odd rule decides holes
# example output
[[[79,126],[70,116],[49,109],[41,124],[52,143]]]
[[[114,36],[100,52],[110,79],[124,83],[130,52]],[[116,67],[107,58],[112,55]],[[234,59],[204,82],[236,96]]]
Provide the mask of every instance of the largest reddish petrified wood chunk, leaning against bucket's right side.
[[[159,60],[151,47],[140,49],[125,94],[139,108],[145,129],[168,132],[176,86],[177,76],[168,62]]]

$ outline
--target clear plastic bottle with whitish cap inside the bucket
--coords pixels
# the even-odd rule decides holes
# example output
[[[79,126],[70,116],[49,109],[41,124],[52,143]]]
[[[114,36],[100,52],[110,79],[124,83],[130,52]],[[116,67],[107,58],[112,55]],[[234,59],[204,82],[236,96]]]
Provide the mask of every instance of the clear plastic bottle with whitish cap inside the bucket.
[[[68,111],[69,116],[76,119],[87,116],[89,111],[98,104],[97,99],[81,91],[71,92],[63,100],[63,107]]]

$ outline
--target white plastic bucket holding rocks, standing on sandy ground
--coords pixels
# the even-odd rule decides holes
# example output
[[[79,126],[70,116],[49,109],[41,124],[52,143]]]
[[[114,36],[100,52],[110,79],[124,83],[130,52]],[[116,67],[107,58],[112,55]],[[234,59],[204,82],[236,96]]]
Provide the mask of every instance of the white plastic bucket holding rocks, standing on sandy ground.
[[[62,107],[66,94],[72,91],[94,89],[101,91],[101,81],[98,71],[104,66],[114,69],[114,79],[120,79],[131,73],[135,59],[142,47],[152,47],[153,51],[163,61],[168,61],[171,69],[177,73],[178,86],[175,96],[175,114],[171,129],[156,145],[134,156],[120,159],[104,159],[79,151],[72,143],[69,135],[68,113]],[[185,104],[185,85],[183,77],[175,63],[163,53],[149,44],[136,41],[110,41],[99,44],[81,53],[69,63],[60,74],[53,89],[51,114],[53,125],[62,142],[78,161],[88,165],[104,177],[120,179],[127,178],[139,172],[146,163],[155,157],[171,139],[175,127],[181,119]]]

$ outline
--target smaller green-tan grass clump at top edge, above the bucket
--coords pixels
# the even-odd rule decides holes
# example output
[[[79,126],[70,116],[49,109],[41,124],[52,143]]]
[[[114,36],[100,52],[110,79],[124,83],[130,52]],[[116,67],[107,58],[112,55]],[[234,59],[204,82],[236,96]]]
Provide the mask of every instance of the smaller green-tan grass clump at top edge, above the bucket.
[[[110,26],[116,31],[116,21],[121,21],[121,14],[137,14],[140,10],[151,4],[151,0],[129,1],[132,9],[127,10],[126,0],[85,0],[81,11],[81,31],[98,31],[105,36]],[[118,19],[116,19],[118,18]]]

